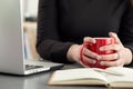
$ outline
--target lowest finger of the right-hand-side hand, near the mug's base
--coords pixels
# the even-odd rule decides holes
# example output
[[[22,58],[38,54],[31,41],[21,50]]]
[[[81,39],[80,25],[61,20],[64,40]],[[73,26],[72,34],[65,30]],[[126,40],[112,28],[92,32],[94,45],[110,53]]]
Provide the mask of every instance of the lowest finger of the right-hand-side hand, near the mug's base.
[[[119,67],[119,66],[123,66],[123,61],[121,59],[116,61],[101,61],[100,65],[108,67]]]

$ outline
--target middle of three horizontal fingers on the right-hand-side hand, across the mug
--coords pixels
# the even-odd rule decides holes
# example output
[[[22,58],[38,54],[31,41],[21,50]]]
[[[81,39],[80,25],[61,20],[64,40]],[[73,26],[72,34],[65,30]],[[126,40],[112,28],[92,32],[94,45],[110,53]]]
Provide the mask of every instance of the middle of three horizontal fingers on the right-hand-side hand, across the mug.
[[[117,58],[119,58],[117,53],[111,53],[111,55],[102,55],[99,60],[112,61],[112,60],[116,60]]]

